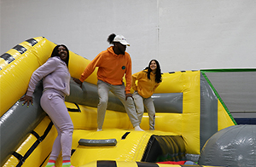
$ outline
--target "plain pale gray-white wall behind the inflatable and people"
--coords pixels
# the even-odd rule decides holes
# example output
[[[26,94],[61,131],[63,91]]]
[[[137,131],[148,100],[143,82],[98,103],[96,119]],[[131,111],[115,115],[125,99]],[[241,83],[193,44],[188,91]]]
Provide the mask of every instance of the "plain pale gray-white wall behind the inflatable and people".
[[[255,0],[0,0],[0,55],[44,36],[92,60],[122,34],[133,72],[249,68],[256,62]]]

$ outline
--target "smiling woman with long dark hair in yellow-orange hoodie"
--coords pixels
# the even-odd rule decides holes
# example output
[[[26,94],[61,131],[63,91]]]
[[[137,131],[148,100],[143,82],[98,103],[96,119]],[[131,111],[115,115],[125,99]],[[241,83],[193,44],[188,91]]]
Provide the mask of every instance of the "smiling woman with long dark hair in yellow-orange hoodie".
[[[151,95],[162,81],[160,64],[157,60],[150,60],[148,67],[132,75],[133,100],[137,108],[137,115],[141,123],[144,106],[148,111],[149,130],[154,130],[155,109]]]

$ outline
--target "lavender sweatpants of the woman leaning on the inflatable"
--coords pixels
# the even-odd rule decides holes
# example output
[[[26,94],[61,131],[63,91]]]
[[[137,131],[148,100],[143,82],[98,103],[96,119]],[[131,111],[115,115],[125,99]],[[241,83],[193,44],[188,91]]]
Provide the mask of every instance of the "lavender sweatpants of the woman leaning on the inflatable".
[[[70,160],[73,123],[67,112],[64,96],[57,90],[47,89],[44,91],[40,103],[58,131],[49,159],[56,160],[62,151],[62,159]]]

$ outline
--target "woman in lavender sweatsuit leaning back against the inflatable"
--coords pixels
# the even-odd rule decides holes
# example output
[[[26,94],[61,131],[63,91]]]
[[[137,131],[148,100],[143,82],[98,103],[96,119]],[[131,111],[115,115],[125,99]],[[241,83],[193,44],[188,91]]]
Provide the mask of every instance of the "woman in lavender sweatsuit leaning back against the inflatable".
[[[32,94],[38,81],[43,78],[44,91],[41,107],[55,124],[58,136],[55,139],[47,167],[55,166],[55,161],[62,151],[62,166],[70,167],[73,123],[67,112],[65,96],[69,95],[70,73],[68,71],[69,52],[65,45],[57,45],[51,57],[32,73],[26,95],[20,99],[23,104],[32,103]]]

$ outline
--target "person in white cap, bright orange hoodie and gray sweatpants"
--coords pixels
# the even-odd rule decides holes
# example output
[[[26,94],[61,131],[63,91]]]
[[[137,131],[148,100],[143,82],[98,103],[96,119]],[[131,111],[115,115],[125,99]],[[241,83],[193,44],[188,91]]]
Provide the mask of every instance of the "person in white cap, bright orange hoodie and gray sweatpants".
[[[110,34],[108,43],[113,44],[107,50],[102,51],[86,66],[79,79],[73,78],[80,86],[86,78],[98,67],[97,85],[99,104],[97,107],[97,131],[102,130],[105,113],[108,107],[108,92],[111,91],[123,103],[131,124],[135,130],[143,131],[139,126],[137,112],[131,94],[131,57],[125,52],[126,46],[130,46],[122,35]],[[125,76],[126,86],[123,82]]]

